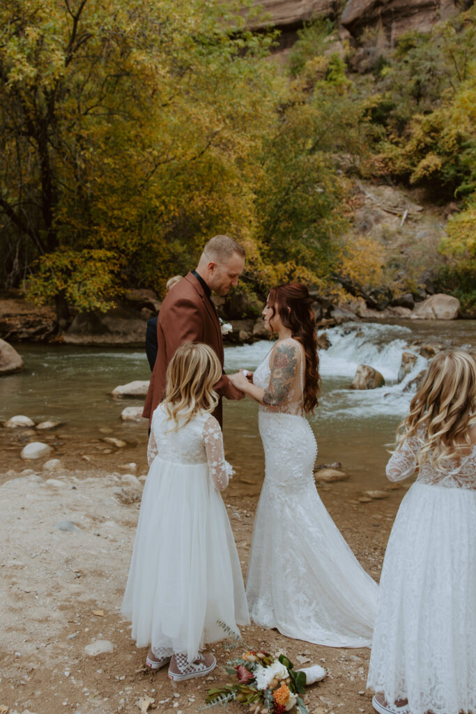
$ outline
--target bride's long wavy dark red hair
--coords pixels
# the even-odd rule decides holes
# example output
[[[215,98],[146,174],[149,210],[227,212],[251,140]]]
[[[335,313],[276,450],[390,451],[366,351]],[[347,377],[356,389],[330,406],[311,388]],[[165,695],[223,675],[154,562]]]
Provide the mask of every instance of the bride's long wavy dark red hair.
[[[314,412],[318,406],[320,392],[318,335],[315,315],[311,308],[312,298],[308,288],[301,283],[288,283],[270,289],[268,305],[275,314],[275,308],[283,325],[290,329],[293,337],[304,348],[304,411]]]

